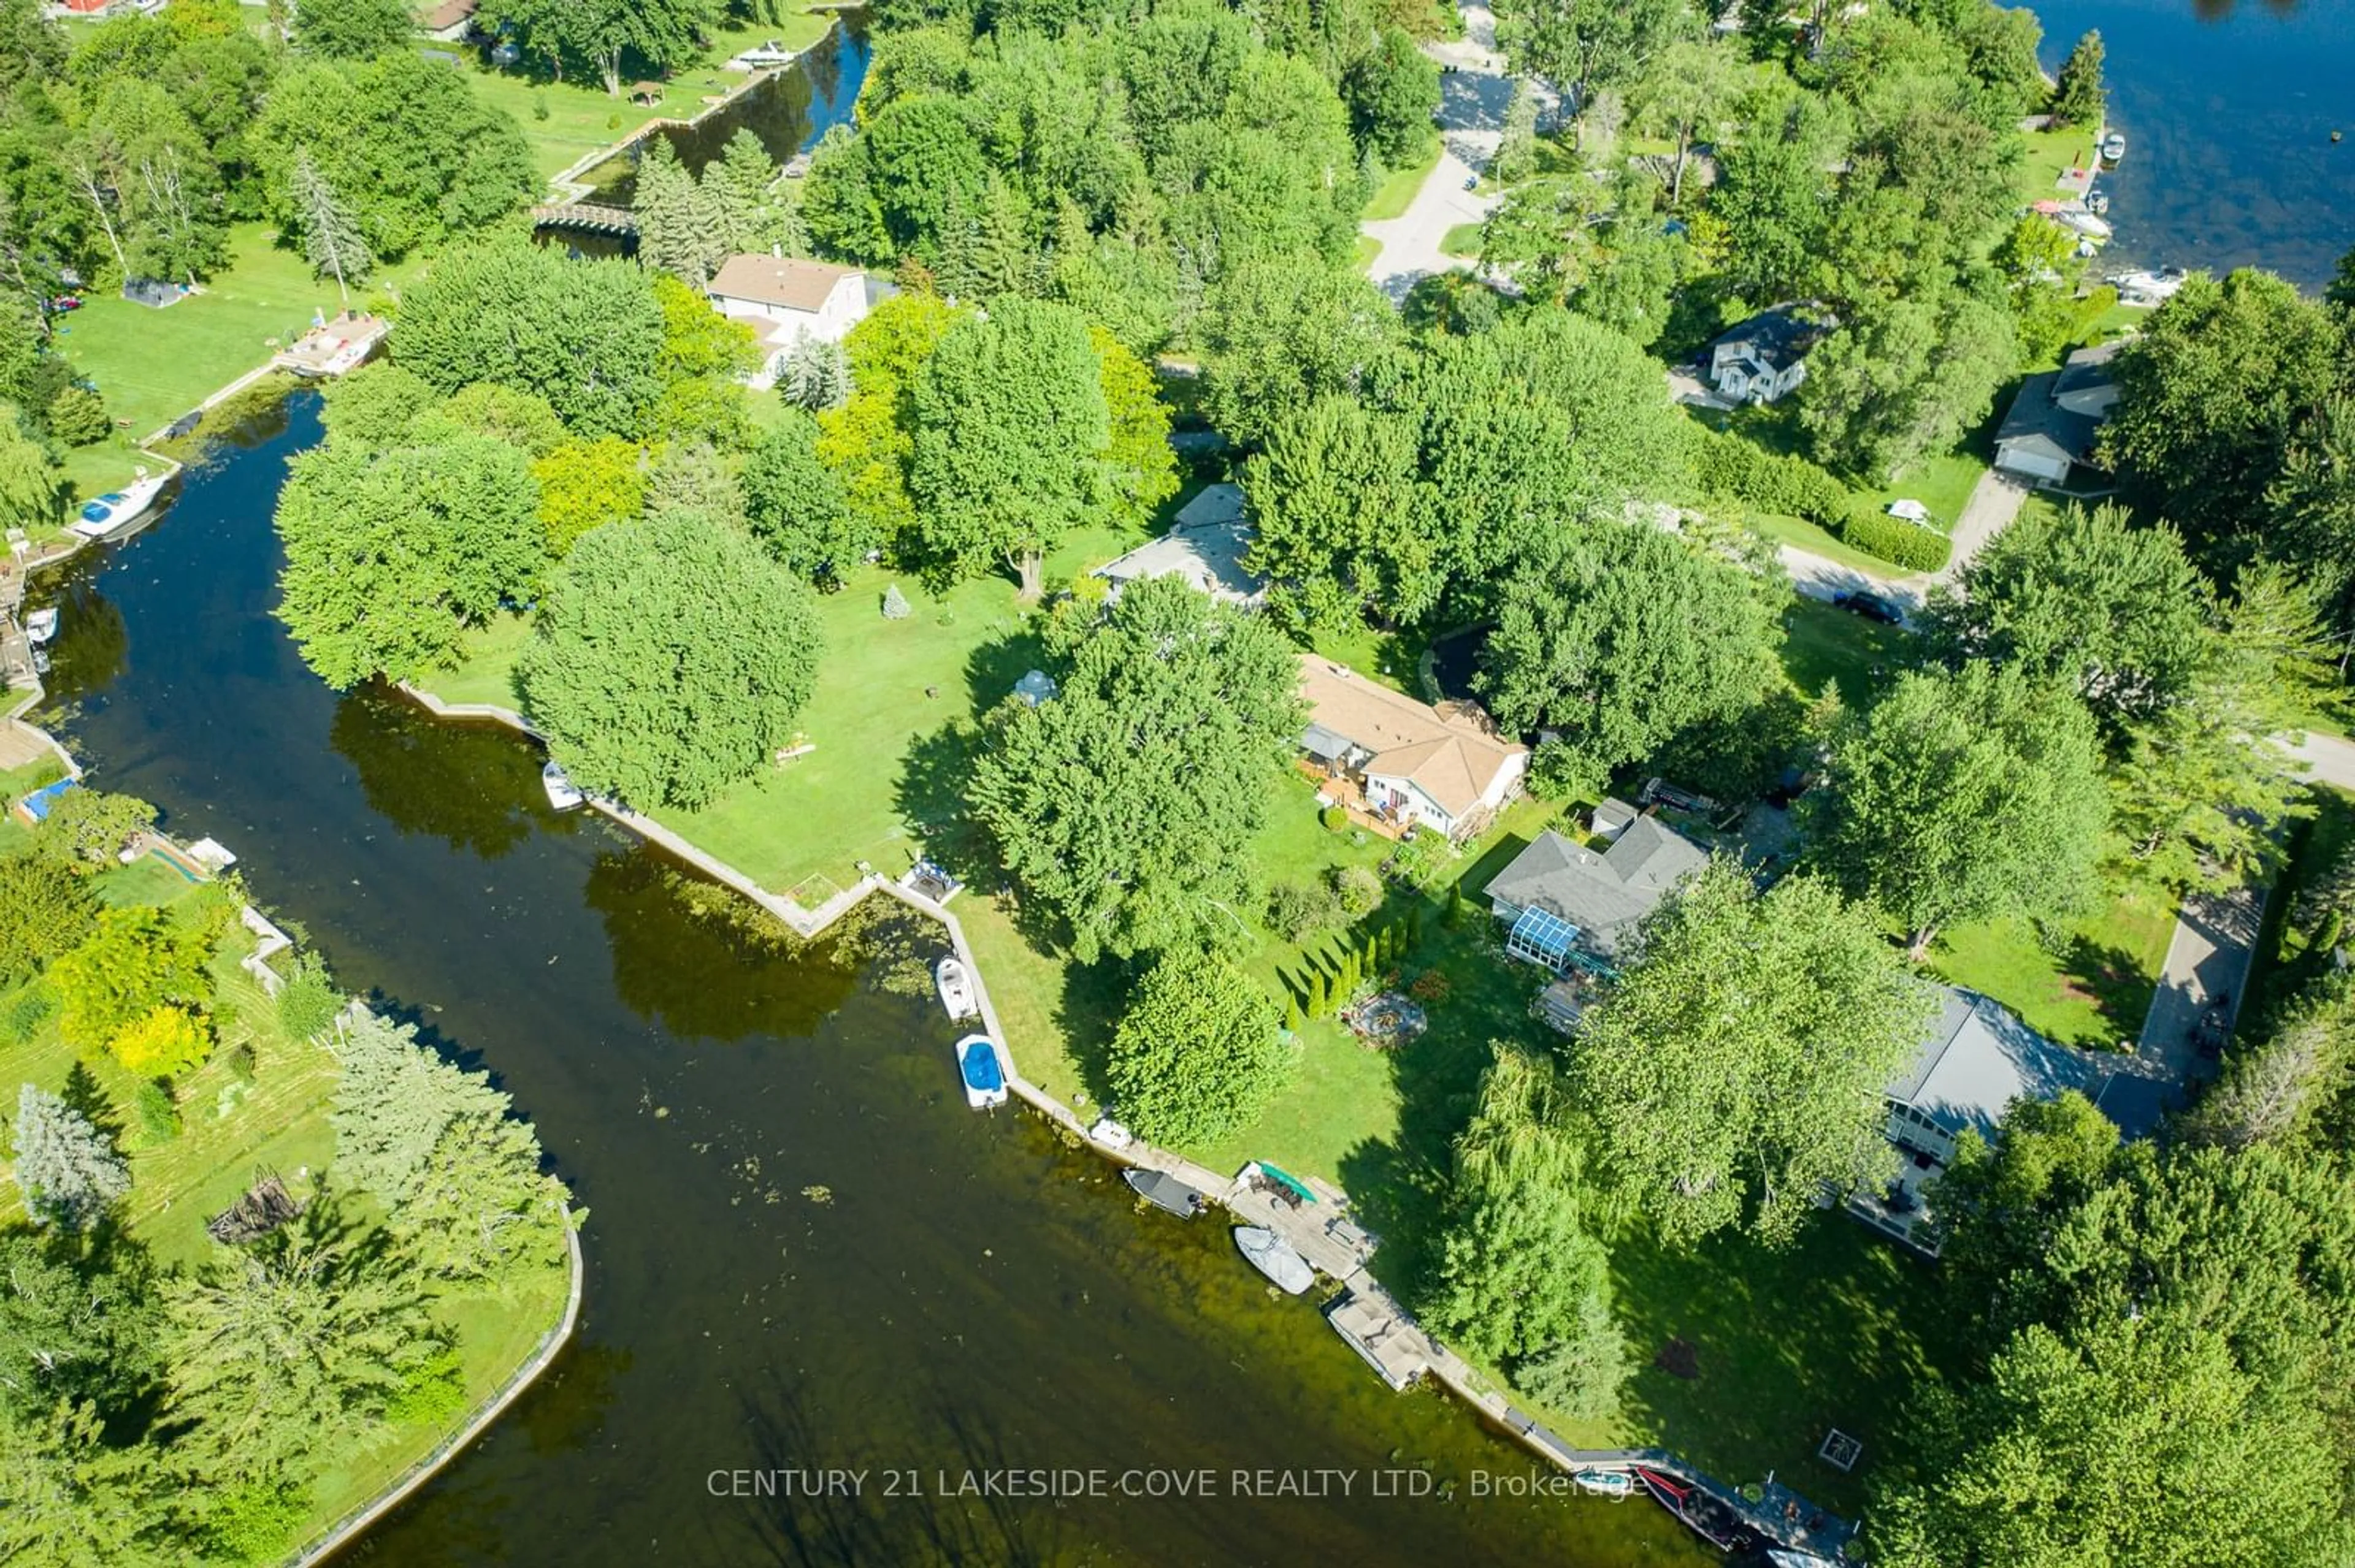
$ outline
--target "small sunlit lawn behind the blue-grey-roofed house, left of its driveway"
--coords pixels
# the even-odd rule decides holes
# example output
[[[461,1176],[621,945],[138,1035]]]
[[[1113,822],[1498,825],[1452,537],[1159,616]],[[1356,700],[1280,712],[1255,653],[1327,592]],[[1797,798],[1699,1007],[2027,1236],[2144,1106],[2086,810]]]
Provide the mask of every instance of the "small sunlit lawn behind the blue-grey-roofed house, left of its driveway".
[[[2131,1050],[2174,930],[2176,899],[2129,885],[2108,890],[2058,942],[2039,939],[2021,918],[1957,925],[1931,946],[1931,968],[1985,991],[2044,1038]]]

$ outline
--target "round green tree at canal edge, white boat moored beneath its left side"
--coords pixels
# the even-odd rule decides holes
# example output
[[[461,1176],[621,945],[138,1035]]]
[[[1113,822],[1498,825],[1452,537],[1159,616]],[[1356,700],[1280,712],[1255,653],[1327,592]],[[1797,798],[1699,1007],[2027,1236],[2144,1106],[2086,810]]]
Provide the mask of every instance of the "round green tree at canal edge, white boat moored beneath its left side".
[[[582,534],[516,673],[582,789],[697,808],[791,739],[817,652],[808,586],[739,527],[681,511]]]

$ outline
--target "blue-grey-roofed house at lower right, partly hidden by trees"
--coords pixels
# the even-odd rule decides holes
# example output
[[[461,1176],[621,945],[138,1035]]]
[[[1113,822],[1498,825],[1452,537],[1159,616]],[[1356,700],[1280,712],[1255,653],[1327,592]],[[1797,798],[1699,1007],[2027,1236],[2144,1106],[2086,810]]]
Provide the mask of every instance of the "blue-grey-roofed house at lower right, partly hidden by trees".
[[[1898,1151],[1898,1172],[1877,1191],[1858,1189],[1846,1196],[1851,1215],[1931,1257],[1938,1255],[1938,1238],[1924,1187],[1945,1175],[1966,1130],[1995,1137],[2014,1102],[2058,1099],[2068,1090],[2117,1118],[2110,1109],[2115,1076],[2103,1057],[2054,1045],[1978,991],[1936,991],[1938,1022],[1886,1088],[1884,1132]]]

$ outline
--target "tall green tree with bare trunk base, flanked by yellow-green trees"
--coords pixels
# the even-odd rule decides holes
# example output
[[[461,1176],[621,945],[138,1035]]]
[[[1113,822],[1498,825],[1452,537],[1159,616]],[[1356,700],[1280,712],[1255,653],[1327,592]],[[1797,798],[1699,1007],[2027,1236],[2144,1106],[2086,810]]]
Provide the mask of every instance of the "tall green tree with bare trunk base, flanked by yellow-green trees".
[[[909,494],[940,582],[1013,567],[1036,598],[1046,553],[1109,501],[1112,414],[1086,318],[999,301],[916,372]]]

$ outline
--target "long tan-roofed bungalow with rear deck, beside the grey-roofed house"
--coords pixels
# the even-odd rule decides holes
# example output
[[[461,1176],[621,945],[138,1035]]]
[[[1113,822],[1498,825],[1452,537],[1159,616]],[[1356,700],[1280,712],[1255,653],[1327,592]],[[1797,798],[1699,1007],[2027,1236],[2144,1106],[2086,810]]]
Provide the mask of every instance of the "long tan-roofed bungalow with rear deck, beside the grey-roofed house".
[[[1470,702],[1434,709],[1316,655],[1300,655],[1300,697],[1309,704],[1300,749],[1328,777],[1361,786],[1378,817],[1470,838],[1528,775],[1528,746]]]

